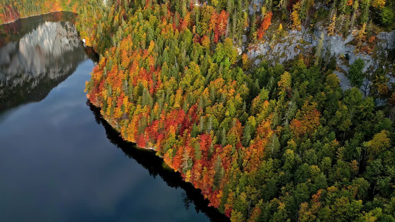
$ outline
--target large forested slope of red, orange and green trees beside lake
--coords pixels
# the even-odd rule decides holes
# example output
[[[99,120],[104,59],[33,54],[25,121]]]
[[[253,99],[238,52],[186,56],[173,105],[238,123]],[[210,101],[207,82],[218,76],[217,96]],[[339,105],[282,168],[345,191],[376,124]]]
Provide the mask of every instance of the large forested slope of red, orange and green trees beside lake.
[[[231,222],[395,222],[394,9],[85,0],[87,97]]]

